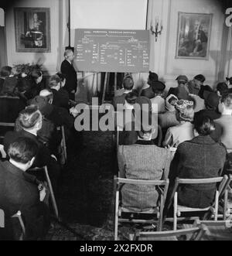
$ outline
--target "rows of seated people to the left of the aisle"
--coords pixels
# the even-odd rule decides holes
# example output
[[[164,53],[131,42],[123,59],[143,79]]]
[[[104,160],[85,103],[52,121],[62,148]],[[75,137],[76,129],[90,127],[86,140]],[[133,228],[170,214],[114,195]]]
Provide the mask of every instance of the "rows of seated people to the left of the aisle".
[[[15,123],[12,131],[1,131],[6,158],[0,162],[0,209],[5,211],[7,228],[3,234],[0,229],[0,240],[12,238],[9,219],[17,210],[26,224],[26,239],[34,240],[43,237],[49,227],[48,192],[43,173],[29,169],[47,166],[57,195],[63,169],[58,128],[64,127],[67,141],[80,142],[70,114],[75,102],[63,89],[63,73],[46,81],[41,70],[17,77],[12,67],[2,67],[0,72],[0,121]],[[43,189],[38,189],[41,183]]]

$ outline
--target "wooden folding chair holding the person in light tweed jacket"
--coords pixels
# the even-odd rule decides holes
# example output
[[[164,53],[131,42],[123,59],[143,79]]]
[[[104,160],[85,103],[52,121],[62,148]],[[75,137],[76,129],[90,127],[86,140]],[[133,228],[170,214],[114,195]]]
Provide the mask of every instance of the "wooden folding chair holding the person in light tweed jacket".
[[[119,200],[119,193],[121,191],[121,187],[123,184],[134,184],[134,185],[145,185],[145,186],[159,186],[159,190],[161,192],[160,200],[157,202],[157,207],[152,208],[148,211],[133,211],[127,209],[121,205],[121,201]],[[162,188],[161,188],[162,187]],[[163,208],[165,204],[165,198],[167,195],[167,191],[169,188],[169,179],[167,180],[142,180],[142,179],[124,179],[124,178],[116,178],[114,177],[114,190],[115,190],[115,219],[114,219],[114,240],[118,240],[118,223],[139,223],[139,224],[154,224],[158,222],[158,230],[162,230],[162,214]],[[159,204],[159,205],[158,205]],[[125,218],[122,217],[123,213],[127,213],[130,217]],[[148,220],[145,219],[135,219],[135,213],[145,213],[149,214],[151,217]],[[155,216],[158,220],[155,220]]]

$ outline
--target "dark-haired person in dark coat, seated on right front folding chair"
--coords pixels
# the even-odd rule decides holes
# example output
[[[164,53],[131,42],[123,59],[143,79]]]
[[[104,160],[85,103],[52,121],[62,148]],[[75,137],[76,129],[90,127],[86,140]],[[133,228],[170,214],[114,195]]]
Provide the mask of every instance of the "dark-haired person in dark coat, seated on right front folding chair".
[[[194,120],[196,137],[179,144],[170,169],[170,182],[180,179],[206,179],[220,176],[226,161],[226,149],[214,142],[210,133],[214,129],[213,121],[208,117]],[[170,186],[171,188],[172,186]],[[179,205],[185,207],[209,207],[215,198],[216,184],[184,185],[179,187]]]

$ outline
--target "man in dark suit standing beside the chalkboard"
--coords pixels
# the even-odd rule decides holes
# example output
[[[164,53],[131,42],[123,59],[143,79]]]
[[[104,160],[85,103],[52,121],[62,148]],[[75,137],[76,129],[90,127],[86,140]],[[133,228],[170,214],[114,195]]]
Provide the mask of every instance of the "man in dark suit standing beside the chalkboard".
[[[65,60],[61,63],[60,71],[66,76],[64,89],[70,94],[70,100],[75,100],[77,91],[77,72],[73,67],[74,54],[71,49],[67,49],[63,54]]]

